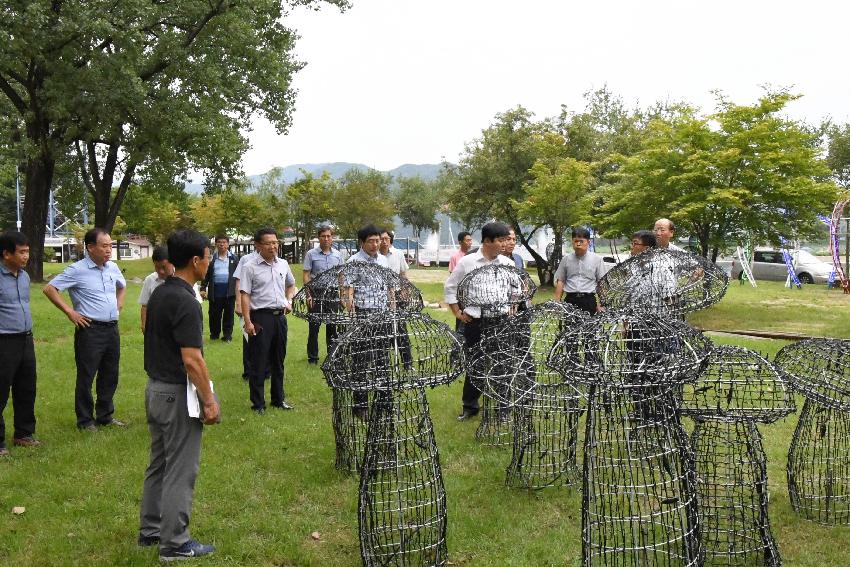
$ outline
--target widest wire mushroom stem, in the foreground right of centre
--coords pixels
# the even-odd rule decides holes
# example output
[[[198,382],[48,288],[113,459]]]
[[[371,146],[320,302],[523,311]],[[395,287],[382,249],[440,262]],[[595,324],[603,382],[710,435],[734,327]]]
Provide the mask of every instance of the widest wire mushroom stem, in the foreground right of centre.
[[[584,441],[583,565],[701,564],[693,453],[670,397],[592,388]]]

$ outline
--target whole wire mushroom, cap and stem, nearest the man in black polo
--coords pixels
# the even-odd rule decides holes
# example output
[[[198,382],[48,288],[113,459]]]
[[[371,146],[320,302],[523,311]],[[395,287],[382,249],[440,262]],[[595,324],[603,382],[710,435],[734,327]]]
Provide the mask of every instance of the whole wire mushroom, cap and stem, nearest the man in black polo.
[[[336,389],[372,392],[360,476],[364,565],[445,565],[446,493],[425,387],[463,371],[460,337],[419,313],[388,312],[352,328],[322,365]]]

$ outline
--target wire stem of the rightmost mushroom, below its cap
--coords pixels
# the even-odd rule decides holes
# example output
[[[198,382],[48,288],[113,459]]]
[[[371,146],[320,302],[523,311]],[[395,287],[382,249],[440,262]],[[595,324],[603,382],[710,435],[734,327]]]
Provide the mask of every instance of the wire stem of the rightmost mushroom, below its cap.
[[[806,400],[788,452],[791,506],[808,520],[850,524],[850,415]]]

